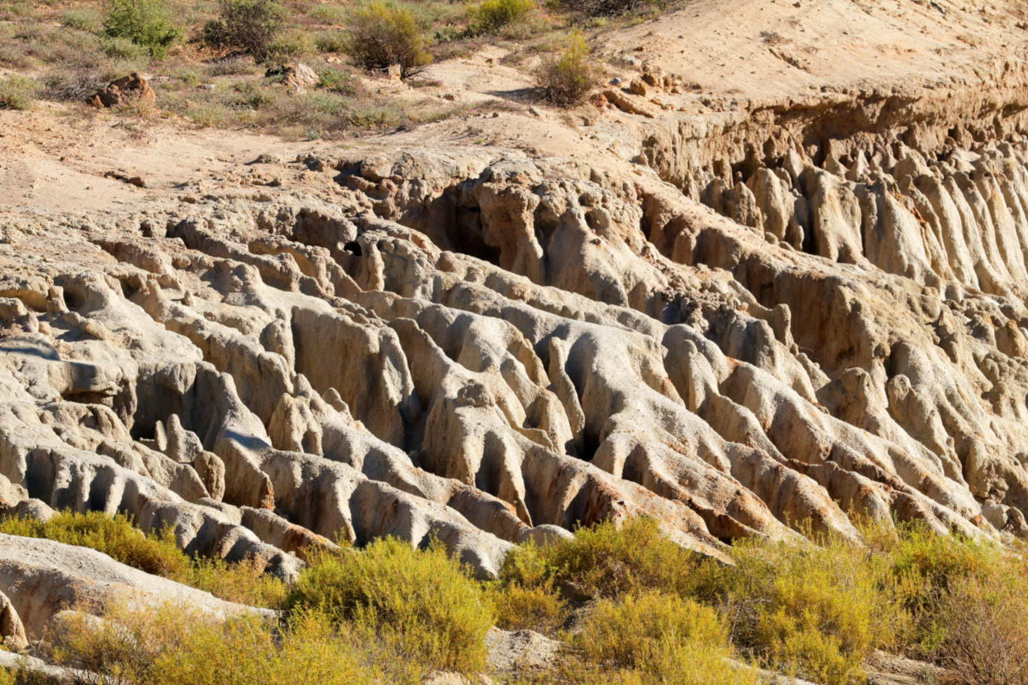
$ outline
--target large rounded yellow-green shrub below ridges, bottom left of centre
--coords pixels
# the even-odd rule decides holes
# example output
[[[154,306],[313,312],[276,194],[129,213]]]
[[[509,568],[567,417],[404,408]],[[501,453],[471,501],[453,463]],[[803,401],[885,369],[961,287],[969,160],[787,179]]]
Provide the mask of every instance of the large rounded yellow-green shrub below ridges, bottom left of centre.
[[[300,574],[287,606],[311,607],[400,645],[427,667],[477,672],[493,611],[438,542],[414,549],[394,538],[363,550],[324,553]]]

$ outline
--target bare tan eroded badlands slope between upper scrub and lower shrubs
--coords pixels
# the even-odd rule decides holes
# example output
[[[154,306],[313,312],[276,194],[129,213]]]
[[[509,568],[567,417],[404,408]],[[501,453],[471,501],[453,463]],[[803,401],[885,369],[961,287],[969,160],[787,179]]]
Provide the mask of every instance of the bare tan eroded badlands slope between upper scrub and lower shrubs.
[[[1028,535],[1022,10],[727,4],[603,38],[622,80],[566,115],[340,147],[3,113],[5,511],[287,579],[384,535],[488,577],[642,515],[717,558]],[[237,609],[104,559],[0,539],[0,629],[124,588]]]

